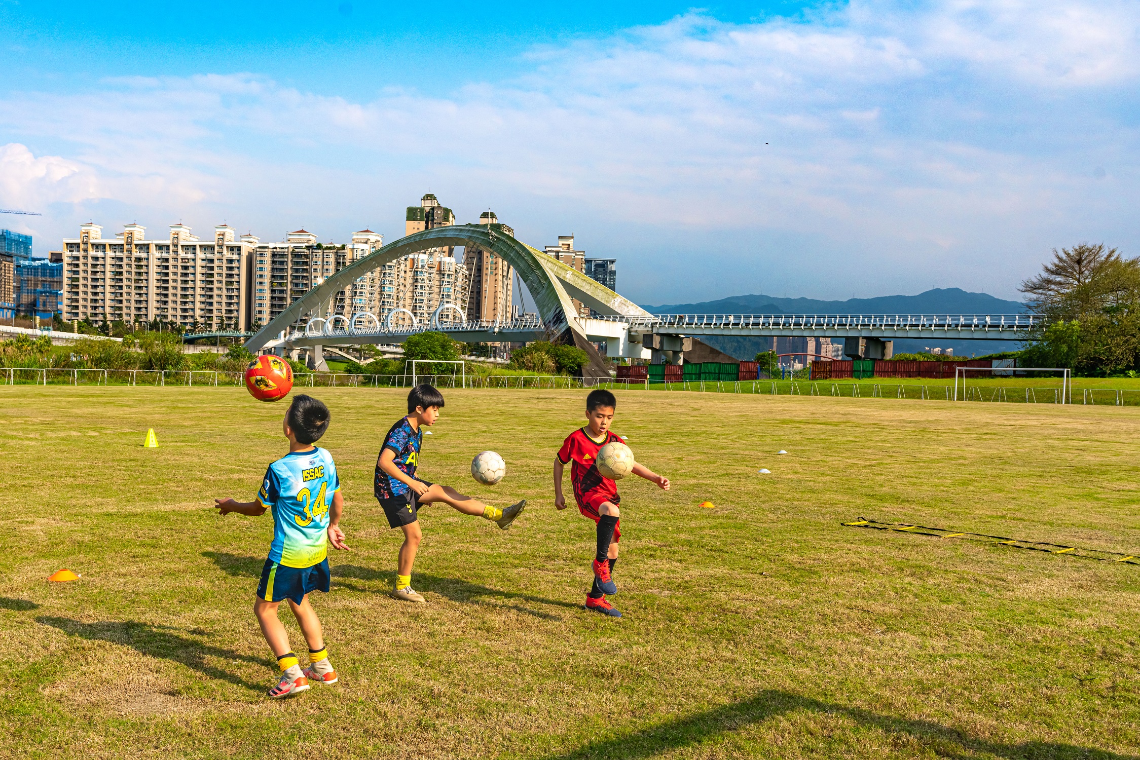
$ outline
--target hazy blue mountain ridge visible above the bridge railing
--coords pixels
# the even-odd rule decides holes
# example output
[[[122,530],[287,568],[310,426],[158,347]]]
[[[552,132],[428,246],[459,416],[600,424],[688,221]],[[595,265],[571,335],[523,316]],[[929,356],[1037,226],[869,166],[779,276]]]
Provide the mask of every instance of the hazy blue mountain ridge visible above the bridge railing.
[[[642,309],[654,314],[1015,314],[1026,310],[1024,303],[958,287],[847,301],[733,295],[719,301],[643,305]]]

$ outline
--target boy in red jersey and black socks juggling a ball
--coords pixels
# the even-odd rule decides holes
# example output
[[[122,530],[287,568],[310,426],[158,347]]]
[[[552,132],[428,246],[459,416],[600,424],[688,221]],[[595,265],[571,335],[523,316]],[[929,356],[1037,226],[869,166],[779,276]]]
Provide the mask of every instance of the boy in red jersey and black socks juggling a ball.
[[[562,496],[562,471],[572,461],[570,481],[573,483],[578,510],[597,524],[594,586],[586,595],[586,608],[620,618],[621,613],[605,600],[605,595],[618,593],[612,573],[618,563],[618,541],[621,538],[621,510],[618,508],[621,497],[618,496],[618,484],[597,471],[597,452],[602,447],[613,441],[622,442],[620,435],[610,431],[617,406],[618,400],[609,391],[598,389],[586,397],[586,427],[567,436],[554,460],[554,506],[559,509],[567,508],[565,497]],[[662,489],[669,488],[668,477],[640,464],[634,465],[633,474],[652,481]]]

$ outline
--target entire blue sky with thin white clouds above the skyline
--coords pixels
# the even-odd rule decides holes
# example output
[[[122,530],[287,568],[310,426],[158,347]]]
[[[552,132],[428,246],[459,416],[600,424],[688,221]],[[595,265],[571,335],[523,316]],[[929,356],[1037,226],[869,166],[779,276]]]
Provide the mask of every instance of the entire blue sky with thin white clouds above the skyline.
[[[1140,254],[1138,32],[1117,0],[0,0],[0,207],[44,213],[0,224],[391,240],[432,191],[643,303],[1017,297],[1054,246]]]

